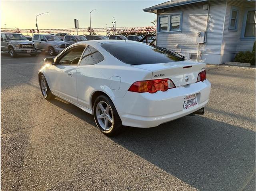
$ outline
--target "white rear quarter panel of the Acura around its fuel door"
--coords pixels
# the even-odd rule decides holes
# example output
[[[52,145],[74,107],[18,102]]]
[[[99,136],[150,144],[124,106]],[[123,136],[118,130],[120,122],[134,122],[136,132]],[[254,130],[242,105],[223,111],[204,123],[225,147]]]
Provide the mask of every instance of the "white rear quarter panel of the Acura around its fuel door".
[[[124,64],[105,50],[94,46],[104,56],[104,60],[94,65],[80,65],[76,73],[78,104],[92,109],[91,98],[94,92],[107,94],[114,102],[115,97],[124,97],[130,86],[139,80],[152,79],[152,72]],[[120,77],[119,90],[110,88],[111,77]]]

